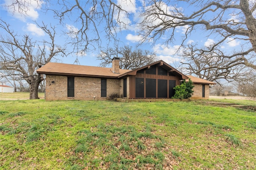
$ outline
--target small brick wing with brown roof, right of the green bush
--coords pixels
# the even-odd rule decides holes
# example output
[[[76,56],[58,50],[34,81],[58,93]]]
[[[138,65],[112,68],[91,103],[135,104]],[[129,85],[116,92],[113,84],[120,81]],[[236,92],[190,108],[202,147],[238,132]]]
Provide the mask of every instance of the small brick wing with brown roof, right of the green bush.
[[[194,77],[194,76],[188,76],[190,80],[193,82],[193,90],[194,93],[191,96],[191,99],[209,99],[210,95],[210,84],[214,85],[216,83],[210,82],[208,80],[204,80],[202,78]],[[186,80],[188,81],[188,80]]]

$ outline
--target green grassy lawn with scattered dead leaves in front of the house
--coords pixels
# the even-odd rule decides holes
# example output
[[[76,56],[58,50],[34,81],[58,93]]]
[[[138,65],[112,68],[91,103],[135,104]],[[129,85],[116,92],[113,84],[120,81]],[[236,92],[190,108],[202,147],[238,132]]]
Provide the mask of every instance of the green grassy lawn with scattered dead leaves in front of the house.
[[[0,169],[255,169],[256,113],[200,102],[0,100]]]

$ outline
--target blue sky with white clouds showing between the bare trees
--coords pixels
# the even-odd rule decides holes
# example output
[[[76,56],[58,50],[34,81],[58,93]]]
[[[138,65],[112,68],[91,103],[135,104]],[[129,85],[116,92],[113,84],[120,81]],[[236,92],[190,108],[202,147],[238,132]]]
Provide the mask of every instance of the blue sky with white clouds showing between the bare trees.
[[[28,16],[23,16],[19,14],[17,11],[10,11],[6,8],[4,8],[4,4],[9,4],[11,0],[1,0],[1,13],[0,17],[2,20],[6,21],[10,24],[11,28],[16,31],[19,35],[30,35],[34,40],[40,41],[44,38],[46,38],[46,34],[38,28],[38,26],[35,24],[34,21],[37,23],[44,23],[51,24],[52,26],[56,27],[56,44],[58,45],[64,45],[64,43],[68,42],[68,35],[64,32],[68,31],[68,29],[73,28],[76,29],[79,25],[76,23],[75,19],[77,17],[76,14],[73,16],[70,16],[70,20],[65,20],[64,25],[59,24],[59,20],[54,18],[54,14],[51,11],[48,11],[45,13],[45,11],[42,10],[44,6],[44,2],[42,1],[41,6],[37,6],[37,4],[30,4]],[[34,1],[31,1],[34,3]],[[72,3],[72,1],[70,1]],[[127,18],[126,16],[122,16],[122,21],[127,23],[129,26],[126,29],[122,29],[120,32],[117,33],[117,38],[122,40],[120,42],[120,46],[123,45],[130,45],[134,48],[142,37],[140,37],[137,33],[138,28],[136,27],[139,21],[141,21],[141,18],[139,17],[141,9],[142,9],[142,0],[131,0],[131,1],[122,1],[122,0],[116,0],[117,4],[120,4],[122,8],[129,11],[131,16]],[[129,2],[129,3],[128,3]],[[51,1],[52,6],[51,8],[58,8],[58,6],[54,6],[54,1]],[[184,12],[191,12],[191,8],[187,6],[185,2],[179,2],[178,4],[168,4],[170,8],[172,6],[176,6],[179,8],[183,8]],[[226,16],[227,18],[236,19],[233,18],[234,16]],[[181,37],[184,35],[184,28],[186,27],[180,27],[179,29],[176,29],[176,37]],[[2,30],[0,30],[1,35],[5,34]],[[94,32],[92,32],[93,34]],[[206,32],[202,31],[202,29],[198,29],[198,31],[194,31],[190,37],[188,37],[186,43],[198,43],[202,46],[209,46],[211,43],[214,43],[216,40],[216,35],[210,35],[204,34]],[[107,47],[107,41],[104,41],[104,34],[102,33],[101,39],[102,39],[102,47]],[[138,48],[140,49],[146,49],[149,51],[154,51],[156,55],[158,56],[158,59],[162,59],[166,63],[177,67],[178,62],[181,60],[180,57],[178,57],[175,52],[178,47],[180,47],[180,39],[176,38],[176,41],[174,41],[173,44],[164,45],[164,41],[166,37],[168,37],[168,32],[163,35],[158,41],[152,43],[143,43]],[[228,50],[230,48],[236,48],[240,46],[240,41],[236,39],[229,39],[229,41],[224,44],[223,49]],[[111,43],[109,45],[111,47]],[[76,48],[74,46],[68,46],[68,50],[72,50],[73,48]],[[76,61],[76,57],[78,56],[78,61],[81,65],[89,65],[89,66],[98,66],[100,64],[100,61],[96,59],[96,56],[99,54],[99,49],[95,49],[92,51],[86,51],[83,53],[83,55],[77,55],[76,53],[70,54],[68,57],[58,57],[60,63],[68,63],[68,64],[74,64]],[[54,60],[52,60],[54,62]],[[76,63],[75,63],[76,64]]]

